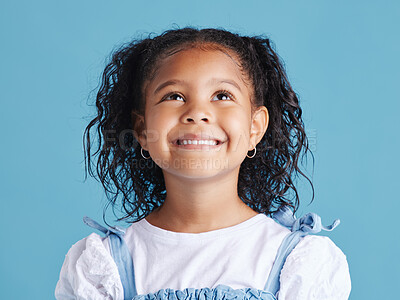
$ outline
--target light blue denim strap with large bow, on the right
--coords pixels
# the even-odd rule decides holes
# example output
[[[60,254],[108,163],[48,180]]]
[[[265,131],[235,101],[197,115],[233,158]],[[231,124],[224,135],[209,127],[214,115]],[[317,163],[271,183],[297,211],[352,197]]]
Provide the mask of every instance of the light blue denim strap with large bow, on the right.
[[[269,273],[267,283],[264,290],[276,295],[280,288],[279,276],[286,258],[290,252],[296,247],[300,240],[310,234],[318,233],[321,230],[331,231],[340,224],[340,220],[335,220],[330,226],[322,226],[321,218],[315,213],[308,213],[303,217],[296,219],[289,207],[280,208],[272,216],[278,223],[289,228],[289,233],[282,241],[271,272]]]

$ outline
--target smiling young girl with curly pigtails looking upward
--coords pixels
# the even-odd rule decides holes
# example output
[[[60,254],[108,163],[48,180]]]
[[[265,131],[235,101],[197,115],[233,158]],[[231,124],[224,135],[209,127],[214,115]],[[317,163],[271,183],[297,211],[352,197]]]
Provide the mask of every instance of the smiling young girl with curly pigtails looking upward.
[[[131,222],[74,244],[57,299],[347,299],[345,255],[296,219],[302,110],[266,38],[184,28],[116,51],[85,157]],[[97,126],[93,154],[90,129]],[[100,152],[99,152],[100,151]]]

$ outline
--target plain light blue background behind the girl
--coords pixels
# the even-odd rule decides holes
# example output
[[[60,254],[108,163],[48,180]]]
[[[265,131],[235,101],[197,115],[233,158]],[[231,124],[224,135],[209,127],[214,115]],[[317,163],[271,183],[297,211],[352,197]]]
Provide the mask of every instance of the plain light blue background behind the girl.
[[[299,94],[315,154],[315,211],[347,255],[350,299],[387,299],[400,282],[398,1],[2,1],[2,299],[53,299],[65,254],[101,220],[84,182],[86,103],[105,58],[174,26],[268,35]],[[92,99],[92,98],[91,98]]]

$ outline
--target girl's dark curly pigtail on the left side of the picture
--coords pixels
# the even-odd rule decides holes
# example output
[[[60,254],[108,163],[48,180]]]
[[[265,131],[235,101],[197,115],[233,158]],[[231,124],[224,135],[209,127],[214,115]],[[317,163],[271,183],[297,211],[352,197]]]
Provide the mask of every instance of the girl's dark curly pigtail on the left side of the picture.
[[[97,116],[84,131],[85,179],[89,172],[103,185],[109,200],[103,210],[105,223],[110,205],[114,215],[120,205],[124,217],[118,221],[140,218],[141,210],[158,206],[165,190],[161,169],[152,160],[143,159],[133,133],[136,117],[144,115],[143,74],[152,43],[151,39],[133,41],[114,52],[98,87]],[[95,130],[96,138],[91,137],[91,130]],[[91,140],[97,145],[95,151]],[[96,164],[91,157],[96,157]],[[149,182],[155,181],[161,184],[149,186]],[[119,198],[122,200],[118,201]]]

